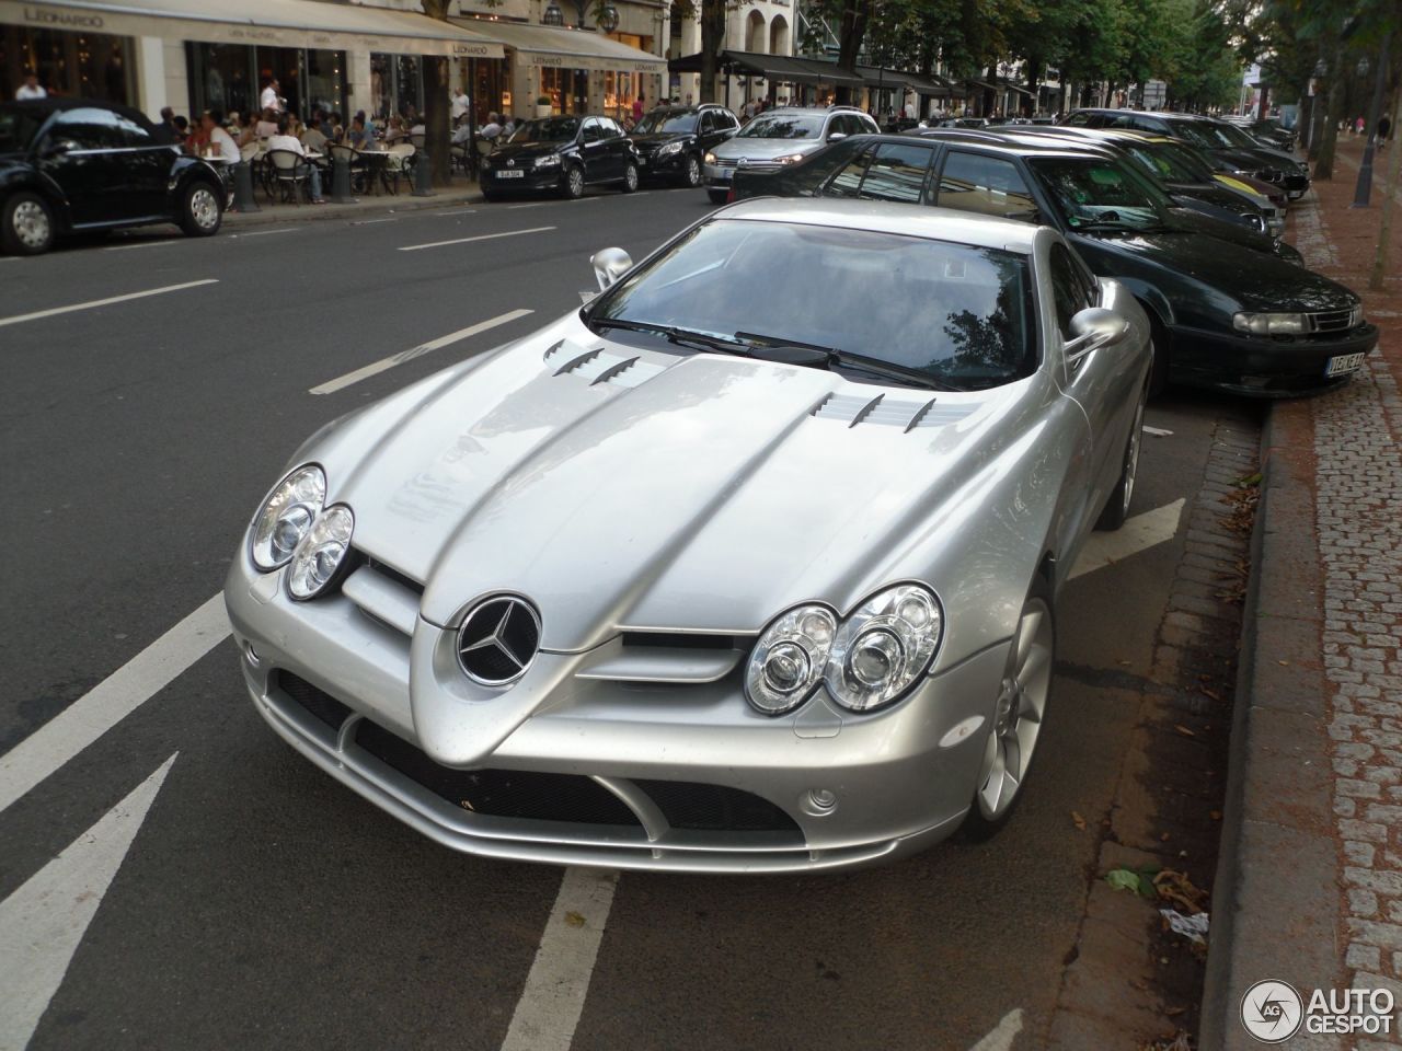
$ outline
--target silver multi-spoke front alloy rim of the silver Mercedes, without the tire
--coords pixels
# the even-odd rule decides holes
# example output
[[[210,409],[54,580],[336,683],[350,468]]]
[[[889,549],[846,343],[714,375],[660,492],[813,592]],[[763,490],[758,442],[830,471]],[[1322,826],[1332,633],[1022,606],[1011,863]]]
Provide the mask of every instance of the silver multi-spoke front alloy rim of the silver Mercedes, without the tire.
[[[979,813],[988,821],[1008,811],[1032,765],[1052,688],[1052,610],[1043,598],[1032,597],[1018,618],[979,774]]]

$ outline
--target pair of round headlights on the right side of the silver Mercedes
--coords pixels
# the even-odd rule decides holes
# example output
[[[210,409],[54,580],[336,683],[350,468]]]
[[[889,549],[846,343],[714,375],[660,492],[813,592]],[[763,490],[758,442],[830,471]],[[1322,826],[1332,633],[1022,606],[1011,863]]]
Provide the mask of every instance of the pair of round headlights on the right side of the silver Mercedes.
[[[939,603],[920,584],[887,587],[843,621],[826,605],[799,605],[760,636],[744,674],[750,703],[784,715],[819,682],[843,708],[871,712],[900,698],[939,649]]]

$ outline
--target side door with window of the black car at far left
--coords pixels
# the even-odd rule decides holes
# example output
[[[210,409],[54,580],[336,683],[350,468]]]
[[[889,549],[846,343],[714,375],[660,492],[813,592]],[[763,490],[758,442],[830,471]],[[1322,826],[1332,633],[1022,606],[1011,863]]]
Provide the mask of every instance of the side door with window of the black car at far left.
[[[63,191],[74,227],[122,223],[137,214],[116,116],[97,107],[64,109],[39,143],[39,170]]]

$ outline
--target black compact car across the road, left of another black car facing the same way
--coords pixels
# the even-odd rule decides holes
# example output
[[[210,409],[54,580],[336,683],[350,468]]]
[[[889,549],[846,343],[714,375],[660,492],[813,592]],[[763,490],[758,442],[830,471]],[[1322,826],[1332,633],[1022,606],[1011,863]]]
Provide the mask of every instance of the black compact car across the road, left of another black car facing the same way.
[[[611,116],[545,116],[517,125],[512,137],[482,158],[486,200],[522,191],[583,196],[585,186],[638,189],[638,151]]]

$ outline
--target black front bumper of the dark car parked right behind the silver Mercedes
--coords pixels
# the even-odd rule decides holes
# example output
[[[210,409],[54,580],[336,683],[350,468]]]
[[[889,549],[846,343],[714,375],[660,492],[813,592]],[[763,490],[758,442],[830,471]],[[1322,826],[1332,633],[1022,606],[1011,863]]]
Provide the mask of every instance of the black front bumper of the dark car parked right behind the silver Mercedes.
[[[1329,360],[1368,355],[1378,329],[1364,324],[1336,338],[1242,336],[1172,327],[1171,378],[1190,387],[1213,387],[1232,394],[1291,397],[1333,390],[1349,374],[1325,374]]]

